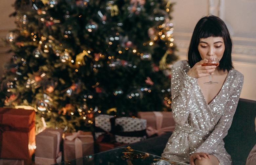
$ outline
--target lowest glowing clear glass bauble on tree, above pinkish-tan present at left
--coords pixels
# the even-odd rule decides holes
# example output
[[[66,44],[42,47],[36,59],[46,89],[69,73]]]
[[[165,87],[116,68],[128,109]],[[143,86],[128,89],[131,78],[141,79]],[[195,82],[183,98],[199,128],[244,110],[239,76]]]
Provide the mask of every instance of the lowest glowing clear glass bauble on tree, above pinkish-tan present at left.
[[[49,111],[52,109],[52,98],[47,94],[43,94],[36,102],[36,109],[39,111]]]

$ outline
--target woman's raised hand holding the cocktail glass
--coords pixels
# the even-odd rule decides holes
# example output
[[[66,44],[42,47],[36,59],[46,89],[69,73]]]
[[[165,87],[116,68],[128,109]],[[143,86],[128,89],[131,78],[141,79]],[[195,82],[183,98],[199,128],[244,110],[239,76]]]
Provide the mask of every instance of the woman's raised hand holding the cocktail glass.
[[[203,63],[207,62],[207,59],[197,62],[189,71],[188,75],[193,78],[200,78],[210,75],[210,72],[215,71],[216,66],[202,66]]]

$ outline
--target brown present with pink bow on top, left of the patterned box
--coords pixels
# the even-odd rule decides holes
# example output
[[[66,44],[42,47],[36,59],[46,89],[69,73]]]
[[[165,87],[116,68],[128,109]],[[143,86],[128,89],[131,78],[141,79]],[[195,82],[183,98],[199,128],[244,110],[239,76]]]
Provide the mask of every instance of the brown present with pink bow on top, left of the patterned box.
[[[65,161],[94,154],[92,132],[78,131],[71,135],[66,134],[63,148]]]

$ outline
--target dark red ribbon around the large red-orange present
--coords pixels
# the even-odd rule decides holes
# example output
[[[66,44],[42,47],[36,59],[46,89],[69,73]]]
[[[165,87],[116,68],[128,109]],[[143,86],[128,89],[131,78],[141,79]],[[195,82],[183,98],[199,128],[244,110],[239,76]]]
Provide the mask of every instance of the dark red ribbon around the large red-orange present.
[[[5,108],[0,112],[0,156],[2,152],[2,144],[3,144],[3,133],[5,131],[18,131],[18,132],[29,132],[34,126],[35,122],[32,122],[28,128],[24,127],[14,127],[12,125],[3,124],[3,114],[10,111],[11,108]]]

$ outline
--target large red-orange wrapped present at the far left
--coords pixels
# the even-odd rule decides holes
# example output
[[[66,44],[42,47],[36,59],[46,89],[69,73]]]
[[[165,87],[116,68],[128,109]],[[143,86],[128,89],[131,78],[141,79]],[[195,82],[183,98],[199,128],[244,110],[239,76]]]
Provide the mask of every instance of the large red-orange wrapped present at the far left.
[[[0,158],[31,160],[35,150],[34,110],[0,108],[0,130]]]

